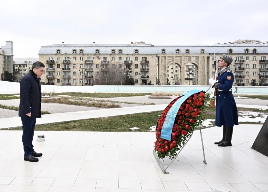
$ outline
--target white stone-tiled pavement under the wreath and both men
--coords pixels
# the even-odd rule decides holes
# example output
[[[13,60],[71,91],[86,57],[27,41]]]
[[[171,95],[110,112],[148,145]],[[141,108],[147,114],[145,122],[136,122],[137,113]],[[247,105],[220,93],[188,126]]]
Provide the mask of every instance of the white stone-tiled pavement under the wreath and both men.
[[[94,111],[95,113],[96,111]],[[153,156],[155,133],[35,131],[39,162],[23,160],[22,131],[0,133],[2,192],[267,192],[268,157],[251,149],[262,125],[235,126],[232,147],[214,144],[222,129],[195,131],[164,174]],[[46,141],[37,142],[44,133]],[[166,159],[166,162],[170,160]]]

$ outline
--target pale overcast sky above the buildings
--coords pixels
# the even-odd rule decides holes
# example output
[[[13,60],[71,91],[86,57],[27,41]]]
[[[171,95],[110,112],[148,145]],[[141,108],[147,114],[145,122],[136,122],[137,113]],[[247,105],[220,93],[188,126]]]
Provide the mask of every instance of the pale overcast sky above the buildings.
[[[50,44],[268,40],[267,0],[0,0],[0,46],[38,58]]]

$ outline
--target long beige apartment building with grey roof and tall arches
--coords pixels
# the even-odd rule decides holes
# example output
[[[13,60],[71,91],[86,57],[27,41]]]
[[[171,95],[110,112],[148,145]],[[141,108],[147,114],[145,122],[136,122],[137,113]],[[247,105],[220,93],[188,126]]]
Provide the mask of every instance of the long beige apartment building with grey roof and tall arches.
[[[229,68],[234,84],[249,85],[251,79],[268,83],[267,43],[209,45],[53,44],[42,46],[39,61],[46,64],[44,81],[53,85],[95,85],[105,68],[123,68],[135,85],[209,85],[215,74],[215,60],[222,54],[233,58]]]

